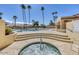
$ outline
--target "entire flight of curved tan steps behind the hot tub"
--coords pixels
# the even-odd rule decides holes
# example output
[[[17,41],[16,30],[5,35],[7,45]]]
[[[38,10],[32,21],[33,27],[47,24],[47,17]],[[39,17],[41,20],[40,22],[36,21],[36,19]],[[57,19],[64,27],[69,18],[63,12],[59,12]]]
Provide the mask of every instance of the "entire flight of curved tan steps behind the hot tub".
[[[52,34],[42,34],[43,38],[47,39],[54,39],[54,40],[59,40],[59,41],[64,41],[64,42],[72,42],[67,36],[60,36],[60,35],[52,35]],[[34,39],[34,38],[40,38],[40,34],[27,34],[27,35],[18,35],[16,40],[26,40],[26,39]]]

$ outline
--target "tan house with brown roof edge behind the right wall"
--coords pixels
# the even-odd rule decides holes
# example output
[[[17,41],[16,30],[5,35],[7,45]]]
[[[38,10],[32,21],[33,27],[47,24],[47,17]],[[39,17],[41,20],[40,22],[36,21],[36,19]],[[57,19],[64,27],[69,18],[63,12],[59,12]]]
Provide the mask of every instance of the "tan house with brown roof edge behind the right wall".
[[[75,14],[73,16],[61,17],[60,20],[58,20],[56,22],[56,27],[57,27],[57,29],[62,29],[65,31],[66,30],[66,23],[75,21],[75,20],[79,20],[79,14]]]

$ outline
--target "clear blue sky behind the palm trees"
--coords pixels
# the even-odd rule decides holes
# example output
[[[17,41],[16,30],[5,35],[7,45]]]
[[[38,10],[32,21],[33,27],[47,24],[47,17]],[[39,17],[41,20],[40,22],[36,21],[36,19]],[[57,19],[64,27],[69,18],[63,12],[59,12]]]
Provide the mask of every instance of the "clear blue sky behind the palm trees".
[[[27,7],[27,4],[25,4]],[[78,4],[29,4],[31,5],[31,20],[36,20],[42,23],[41,6],[45,7],[45,24],[48,24],[52,18],[52,12],[58,11],[58,17],[71,16],[79,13]],[[3,19],[5,21],[12,22],[12,16],[16,15],[18,17],[17,22],[23,22],[22,20],[22,9],[20,4],[0,4],[0,12],[3,13]],[[28,20],[28,9],[26,8],[26,17]]]

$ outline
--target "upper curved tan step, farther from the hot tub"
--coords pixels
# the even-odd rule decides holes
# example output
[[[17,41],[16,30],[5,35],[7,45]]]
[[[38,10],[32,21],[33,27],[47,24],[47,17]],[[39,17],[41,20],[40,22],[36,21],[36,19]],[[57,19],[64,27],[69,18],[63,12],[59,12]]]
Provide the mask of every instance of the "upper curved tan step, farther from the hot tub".
[[[40,36],[40,34],[18,35],[16,39],[20,39],[20,38],[24,38],[24,37],[27,38],[27,37],[31,37],[31,36],[32,36],[32,37],[33,37],[33,36],[35,36],[35,37],[41,37],[41,36],[45,37],[45,36],[48,36],[48,37],[56,37],[56,38],[60,38],[60,39],[70,40],[70,38],[68,38],[68,37],[59,36],[59,35],[52,35],[52,34],[42,34],[41,36]]]

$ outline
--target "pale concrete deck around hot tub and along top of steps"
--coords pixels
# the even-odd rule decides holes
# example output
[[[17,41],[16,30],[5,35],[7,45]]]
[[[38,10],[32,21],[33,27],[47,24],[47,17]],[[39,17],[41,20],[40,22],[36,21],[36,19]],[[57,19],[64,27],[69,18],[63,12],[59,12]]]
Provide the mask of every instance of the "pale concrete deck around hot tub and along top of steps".
[[[24,34],[31,34],[31,33],[53,33],[53,34],[59,34],[59,35],[64,35],[64,36],[67,36],[66,33],[61,33],[61,32],[57,32],[57,31],[35,31],[35,32],[19,32],[19,33],[16,33],[16,35],[24,35]],[[30,43],[33,43],[33,42],[38,42],[40,41],[39,38],[35,38],[35,39],[28,39],[28,40],[17,40],[15,41],[13,44],[9,45],[8,47],[6,47],[5,49],[1,50],[0,51],[0,54],[1,55],[18,55],[18,53],[20,52],[20,50],[30,44]],[[59,41],[59,40],[53,40],[53,39],[46,39],[46,38],[43,38],[43,41],[44,42],[47,42],[47,43],[50,43],[54,46],[56,46],[62,55],[72,55],[72,54],[77,54],[75,52],[72,51],[72,43],[69,43],[69,42],[62,42],[62,41]]]

